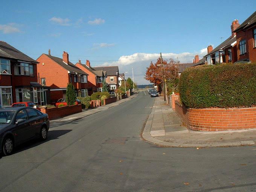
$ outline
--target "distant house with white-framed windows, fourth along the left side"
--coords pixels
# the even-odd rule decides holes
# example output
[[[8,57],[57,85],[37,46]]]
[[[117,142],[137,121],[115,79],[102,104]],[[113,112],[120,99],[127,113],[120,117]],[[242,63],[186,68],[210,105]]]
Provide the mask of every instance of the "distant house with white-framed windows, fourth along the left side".
[[[115,91],[119,87],[119,69],[118,66],[93,67],[94,70],[103,70],[107,72],[106,83],[110,91]]]

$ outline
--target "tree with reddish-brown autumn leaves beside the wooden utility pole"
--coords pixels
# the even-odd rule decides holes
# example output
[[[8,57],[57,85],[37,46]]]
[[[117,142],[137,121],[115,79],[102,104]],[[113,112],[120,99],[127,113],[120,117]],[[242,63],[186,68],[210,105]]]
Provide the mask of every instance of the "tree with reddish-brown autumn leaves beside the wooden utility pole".
[[[178,85],[178,67],[179,61],[170,59],[169,62],[163,60],[161,65],[161,58],[157,59],[156,63],[151,61],[149,67],[147,67],[145,79],[158,86],[158,91],[162,91],[163,77],[167,85],[168,93],[174,91]]]

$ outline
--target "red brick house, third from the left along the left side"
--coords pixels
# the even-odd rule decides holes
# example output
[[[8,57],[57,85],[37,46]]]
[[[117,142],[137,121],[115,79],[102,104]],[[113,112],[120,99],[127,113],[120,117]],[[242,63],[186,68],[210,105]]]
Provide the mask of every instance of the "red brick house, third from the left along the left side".
[[[102,92],[102,83],[107,78],[106,71],[93,69],[89,60],[86,60],[85,64],[79,60],[75,65],[88,74],[88,95],[90,96],[97,91]]]

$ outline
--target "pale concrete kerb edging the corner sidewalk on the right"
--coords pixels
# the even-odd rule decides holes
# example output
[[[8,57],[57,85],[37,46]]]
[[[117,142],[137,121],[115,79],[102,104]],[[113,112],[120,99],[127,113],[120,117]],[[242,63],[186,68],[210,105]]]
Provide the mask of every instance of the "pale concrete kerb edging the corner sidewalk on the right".
[[[233,142],[212,142],[212,143],[182,143],[182,142],[166,142],[163,140],[156,139],[151,136],[151,126],[154,118],[156,105],[154,103],[151,113],[148,117],[148,120],[146,122],[146,125],[143,129],[142,137],[147,142],[153,143],[157,146],[161,147],[177,147],[177,148],[188,148],[188,147],[196,147],[196,148],[207,148],[207,147],[232,147],[232,146],[250,146],[250,145],[256,145],[256,142],[253,140],[250,141],[233,141]]]

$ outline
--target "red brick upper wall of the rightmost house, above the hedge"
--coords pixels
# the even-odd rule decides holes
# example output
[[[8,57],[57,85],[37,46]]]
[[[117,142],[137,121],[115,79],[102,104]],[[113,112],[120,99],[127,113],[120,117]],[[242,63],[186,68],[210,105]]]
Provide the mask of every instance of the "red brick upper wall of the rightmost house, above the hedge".
[[[254,48],[253,44],[253,29],[255,29],[255,27],[246,30],[245,32],[240,30],[238,32],[236,32],[236,48],[237,48],[237,57],[238,60],[241,59],[249,59],[252,62],[256,62],[256,48]],[[239,41],[241,40],[246,40],[246,52],[243,55],[240,55],[240,50],[239,50]]]

